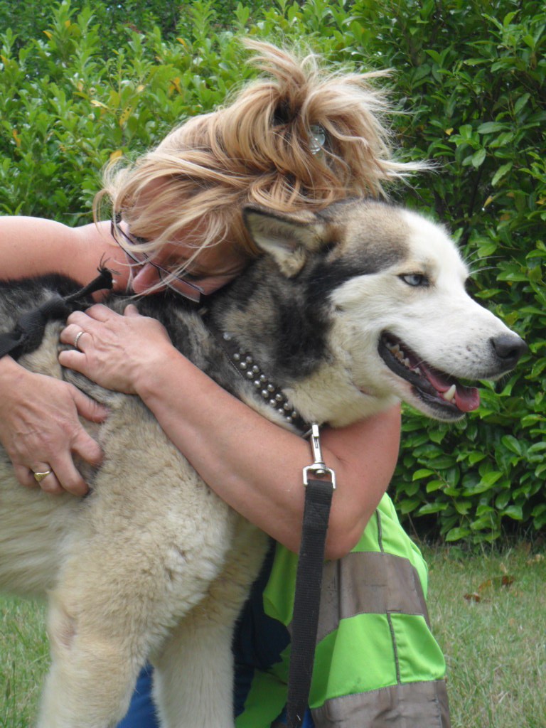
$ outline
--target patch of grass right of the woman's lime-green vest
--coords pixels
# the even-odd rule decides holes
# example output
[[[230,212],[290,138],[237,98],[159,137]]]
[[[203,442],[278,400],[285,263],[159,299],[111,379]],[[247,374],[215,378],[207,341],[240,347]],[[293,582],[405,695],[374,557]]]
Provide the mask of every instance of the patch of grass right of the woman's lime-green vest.
[[[452,728],[546,728],[546,558],[425,550]]]

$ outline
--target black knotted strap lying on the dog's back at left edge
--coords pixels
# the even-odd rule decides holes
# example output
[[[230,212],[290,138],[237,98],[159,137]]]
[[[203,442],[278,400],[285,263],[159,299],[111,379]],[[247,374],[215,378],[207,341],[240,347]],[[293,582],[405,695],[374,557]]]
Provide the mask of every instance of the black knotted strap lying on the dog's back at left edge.
[[[37,349],[44,338],[44,329],[49,321],[66,319],[74,311],[74,304],[81,298],[95,293],[97,290],[112,288],[112,274],[107,268],[100,267],[98,276],[84,288],[76,290],[70,296],[58,293],[37,309],[23,314],[12,331],[0,335],[0,357],[7,354],[15,360]],[[15,284],[16,285],[16,284]]]

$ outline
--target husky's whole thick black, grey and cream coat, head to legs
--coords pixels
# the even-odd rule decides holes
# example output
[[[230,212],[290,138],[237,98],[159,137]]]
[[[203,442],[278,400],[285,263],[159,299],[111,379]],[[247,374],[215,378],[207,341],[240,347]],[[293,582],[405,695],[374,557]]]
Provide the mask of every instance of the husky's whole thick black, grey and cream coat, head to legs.
[[[458,419],[478,403],[451,377],[495,378],[524,349],[467,296],[467,270],[443,229],[414,213],[353,200],[318,215],[245,215],[265,254],[206,314],[168,295],[138,306],[183,354],[279,424],[207,320],[252,352],[308,422],[333,427],[398,399]],[[74,286],[58,277],[5,284],[1,327],[9,331],[59,288]],[[125,303],[109,301],[119,311]],[[48,325],[21,363],[74,381],[111,415],[95,427],[104,463],[84,473],[92,485],[84,499],[21,487],[0,454],[0,585],[47,592],[50,601],[52,667],[39,727],[113,727],[149,659],[163,725],[230,728],[232,629],[264,535],[207,488],[137,397],[60,368],[61,326]]]

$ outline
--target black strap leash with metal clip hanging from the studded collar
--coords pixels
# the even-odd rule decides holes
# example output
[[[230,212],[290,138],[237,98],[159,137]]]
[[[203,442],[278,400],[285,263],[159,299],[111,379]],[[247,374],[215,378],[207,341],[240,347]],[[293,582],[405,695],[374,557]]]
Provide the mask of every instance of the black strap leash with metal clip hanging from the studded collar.
[[[336,475],[323,462],[317,424],[312,425],[311,446],[314,463],[304,468],[305,507],[292,617],[292,647],[286,705],[287,728],[301,726],[309,705],[317,644],[326,532],[333,491],[336,488]]]

